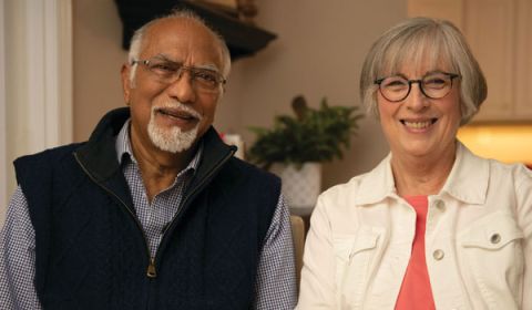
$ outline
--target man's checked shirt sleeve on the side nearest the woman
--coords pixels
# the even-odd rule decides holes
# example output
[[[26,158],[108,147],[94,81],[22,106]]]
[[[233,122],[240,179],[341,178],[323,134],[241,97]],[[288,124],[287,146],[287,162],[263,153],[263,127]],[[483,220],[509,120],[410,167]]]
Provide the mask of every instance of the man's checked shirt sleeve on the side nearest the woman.
[[[296,265],[290,214],[279,196],[258,262],[255,309],[294,309],[297,300]]]

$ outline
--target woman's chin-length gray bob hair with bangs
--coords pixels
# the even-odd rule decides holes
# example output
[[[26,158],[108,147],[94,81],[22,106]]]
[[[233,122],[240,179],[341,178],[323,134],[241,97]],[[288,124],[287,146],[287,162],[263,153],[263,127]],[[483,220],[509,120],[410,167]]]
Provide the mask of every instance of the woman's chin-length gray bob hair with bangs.
[[[427,62],[428,61],[428,62]],[[460,74],[461,125],[479,111],[488,95],[482,70],[460,30],[449,21],[408,19],[386,31],[371,46],[360,73],[360,99],[369,114],[378,117],[375,80],[399,73],[403,65],[449,65]]]

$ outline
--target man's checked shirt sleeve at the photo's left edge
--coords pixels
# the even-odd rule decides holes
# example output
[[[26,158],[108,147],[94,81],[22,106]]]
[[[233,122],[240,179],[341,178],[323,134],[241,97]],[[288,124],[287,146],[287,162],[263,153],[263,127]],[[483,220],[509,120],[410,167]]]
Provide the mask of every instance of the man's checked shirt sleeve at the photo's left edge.
[[[33,279],[35,232],[20,186],[0,230],[0,304],[2,309],[41,309]]]

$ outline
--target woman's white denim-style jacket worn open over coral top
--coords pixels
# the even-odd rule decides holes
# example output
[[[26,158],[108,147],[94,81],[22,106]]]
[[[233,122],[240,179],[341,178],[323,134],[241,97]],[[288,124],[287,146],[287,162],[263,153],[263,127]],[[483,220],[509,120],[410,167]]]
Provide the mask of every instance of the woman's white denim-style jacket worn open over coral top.
[[[429,196],[436,308],[532,309],[532,173],[458,144],[443,188]],[[297,309],[395,308],[416,211],[396,193],[390,158],[318,198]]]

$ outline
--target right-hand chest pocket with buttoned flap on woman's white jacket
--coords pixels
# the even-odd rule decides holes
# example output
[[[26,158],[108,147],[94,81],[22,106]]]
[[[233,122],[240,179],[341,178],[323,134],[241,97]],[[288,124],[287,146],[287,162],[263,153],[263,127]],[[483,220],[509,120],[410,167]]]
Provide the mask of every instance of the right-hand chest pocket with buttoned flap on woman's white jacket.
[[[519,309],[523,237],[513,215],[504,211],[472,223],[458,236],[459,250],[488,309]]]

